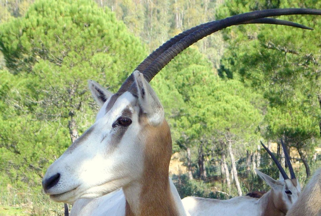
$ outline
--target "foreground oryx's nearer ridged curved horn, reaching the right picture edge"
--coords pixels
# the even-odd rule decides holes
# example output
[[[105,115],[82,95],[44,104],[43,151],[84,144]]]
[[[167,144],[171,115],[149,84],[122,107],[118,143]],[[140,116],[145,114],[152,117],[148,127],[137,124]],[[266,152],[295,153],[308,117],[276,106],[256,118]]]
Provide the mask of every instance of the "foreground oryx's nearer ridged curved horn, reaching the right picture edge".
[[[232,25],[239,25],[250,20],[260,19],[269,16],[280,16],[280,15],[292,15],[292,14],[315,14],[321,15],[321,10],[316,9],[300,9],[300,8],[289,8],[289,9],[269,9],[262,11],[254,11],[243,13],[235,16],[231,16],[219,21],[214,21],[212,24],[204,26],[197,31],[189,34],[188,36],[181,39],[179,42],[171,46],[169,49],[164,51],[158,56],[152,64],[150,64],[144,71],[144,77],[149,82],[151,79],[167,65],[176,55],[186,49],[188,46],[194,44],[198,40],[206,37],[213,32],[227,28]]]

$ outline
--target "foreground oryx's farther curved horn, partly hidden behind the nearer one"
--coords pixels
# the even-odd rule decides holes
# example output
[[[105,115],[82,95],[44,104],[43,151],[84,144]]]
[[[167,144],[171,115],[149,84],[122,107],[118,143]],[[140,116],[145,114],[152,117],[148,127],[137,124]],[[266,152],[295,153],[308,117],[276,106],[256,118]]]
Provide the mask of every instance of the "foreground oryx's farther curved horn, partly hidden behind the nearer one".
[[[211,25],[214,22],[217,21],[211,21],[211,22],[207,22],[207,23],[203,23],[201,25],[195,26],[191,29],[188,29],[178,35],[176,35],[175,37],[172,37],[171,39],[169,39],[168,41],[166,41],[164,44],[162,44],[160,47],[158,47],[155,51],[153,51],[149,56],[147,56],[143,62],[141,62],[134,71],[144,71],[155,59],[157,59],[162,53],[164,53],[167,49],[169,49],[171,46],[173,46],[174,44],[176,44],[178,41],[180,41],[181,39],[183,39],[184,37],[188,36],[189,34],[204,28],[205,26]],[[298,23],[294,23],[294,22],[290,22],[290,21],[285,21],[285,20],[278,20],[278,19],[271,19],[271,18],[260,18],[260,19],[255,19],[255,20],[249,20],[249,21],[245,21],[243,23],[239,23],[239,24],[274,24],[274,25],[286,25],[286,26],[292,26],[292,27],[296,27],[296,28],[301,28],[301,29],[309,29],[309,30],[313,30],[312,28],[309,28],[307,26],[298,24]],[[133,76],[130,75],[126,81],[122,84],[122,86],[119,88],[118,92],[122,93],[125,92],[133,83],[134,79]]]

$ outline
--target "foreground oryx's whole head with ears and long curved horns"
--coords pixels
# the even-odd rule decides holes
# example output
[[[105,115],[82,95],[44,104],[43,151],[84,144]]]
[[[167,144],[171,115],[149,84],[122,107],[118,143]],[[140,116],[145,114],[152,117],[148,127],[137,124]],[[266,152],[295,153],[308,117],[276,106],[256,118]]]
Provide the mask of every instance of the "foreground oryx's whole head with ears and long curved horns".
[[[112,94],[89,81],[101,109],[95,123],[48,168],[42,181],[45,193],[54,201],[72,203],[81,197],[98,197],[119,187],[129,187],[153,173],[167,178],[170,131],[160,101],[149,85],[151,79],[178,53],[215,31],[247,23],[307,28],[264,18],[307,13],[321,14],[312,9],[273,9],[202,24],[160,46],[136,68],[117,93]]]

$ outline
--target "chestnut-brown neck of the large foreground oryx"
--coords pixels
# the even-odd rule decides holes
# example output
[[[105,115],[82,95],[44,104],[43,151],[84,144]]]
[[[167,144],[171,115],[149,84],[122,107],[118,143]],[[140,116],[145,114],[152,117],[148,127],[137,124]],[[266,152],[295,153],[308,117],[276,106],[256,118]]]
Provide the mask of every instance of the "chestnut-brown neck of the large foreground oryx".
[[[126,197],[126,216],[178,215],[169,185],[169,161],[172,141],[167,122],[158,127],[149,124],[142,129],[145,158],[142,178],[123,187]]]

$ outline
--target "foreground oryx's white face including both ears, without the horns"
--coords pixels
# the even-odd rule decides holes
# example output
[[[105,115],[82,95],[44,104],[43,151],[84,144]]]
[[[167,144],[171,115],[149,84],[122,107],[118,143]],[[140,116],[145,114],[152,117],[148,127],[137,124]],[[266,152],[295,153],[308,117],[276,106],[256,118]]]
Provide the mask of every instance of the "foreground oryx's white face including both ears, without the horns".
[[[95,123],[48,168],[42,186],[54,201],[99,197],[142,178],[147,154],[142,133],[153,136],[145,130],[164,121],[164,110],[143,74],[133,76],[131,88],[116,100],[89,81],[101,109]]]

